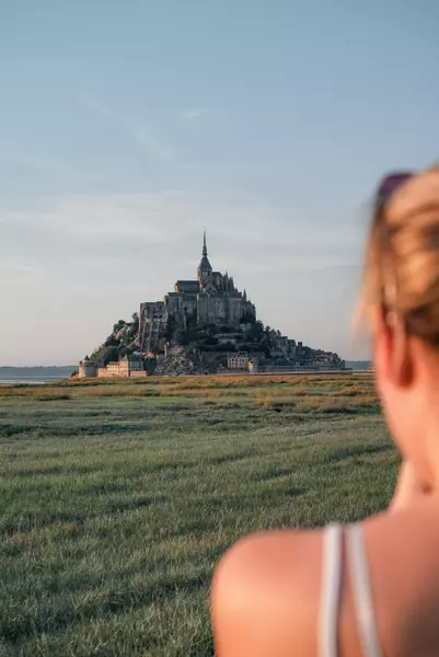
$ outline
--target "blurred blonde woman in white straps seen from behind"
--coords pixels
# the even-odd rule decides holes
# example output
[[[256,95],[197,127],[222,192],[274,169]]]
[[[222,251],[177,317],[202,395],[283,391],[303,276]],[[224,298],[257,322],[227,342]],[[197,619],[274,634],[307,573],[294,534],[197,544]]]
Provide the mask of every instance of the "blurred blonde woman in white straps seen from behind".
[[[439,655],[439,169],[381,184],[361,309],[403,456],[393,500],[232,548],[212,586],[218,657]]]

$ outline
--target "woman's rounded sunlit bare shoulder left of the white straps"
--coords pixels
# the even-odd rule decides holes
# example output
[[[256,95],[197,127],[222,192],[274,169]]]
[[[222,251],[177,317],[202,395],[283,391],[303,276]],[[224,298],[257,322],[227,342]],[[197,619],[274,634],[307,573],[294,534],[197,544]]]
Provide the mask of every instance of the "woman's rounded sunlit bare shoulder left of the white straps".
[[[292,645],[315,654],[304,643],[313,643],[321,553],[320,531],[255,534],[226,553],[211,592],[218,657],[281,657]]]

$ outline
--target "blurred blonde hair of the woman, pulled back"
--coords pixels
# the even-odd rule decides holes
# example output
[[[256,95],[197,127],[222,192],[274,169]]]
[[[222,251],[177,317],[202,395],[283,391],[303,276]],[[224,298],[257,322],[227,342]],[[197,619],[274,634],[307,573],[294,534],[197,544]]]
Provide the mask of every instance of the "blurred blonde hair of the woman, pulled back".
[[[359,316],[372,322],[377,310],[439,346],[439,166],[414,175],[377,207]]]

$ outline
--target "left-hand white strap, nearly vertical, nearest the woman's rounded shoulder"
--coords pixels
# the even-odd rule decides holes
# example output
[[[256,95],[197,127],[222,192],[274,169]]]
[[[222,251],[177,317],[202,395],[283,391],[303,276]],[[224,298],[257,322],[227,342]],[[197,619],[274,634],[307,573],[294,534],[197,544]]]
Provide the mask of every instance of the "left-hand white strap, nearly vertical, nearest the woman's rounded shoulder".
[[[323,534],[319,657],[337,657],[338,607],[342,590],[343,527],[328,525]]]

